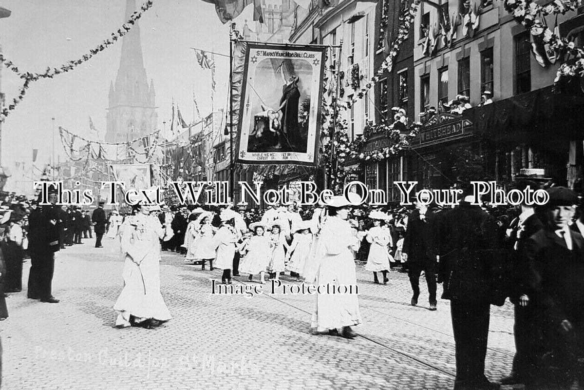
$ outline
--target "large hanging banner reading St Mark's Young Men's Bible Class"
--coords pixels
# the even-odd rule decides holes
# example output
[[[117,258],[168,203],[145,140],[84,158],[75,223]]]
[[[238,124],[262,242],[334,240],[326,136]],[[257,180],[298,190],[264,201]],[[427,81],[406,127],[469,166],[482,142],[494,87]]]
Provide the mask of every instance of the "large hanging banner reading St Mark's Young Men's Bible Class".
[[[316,165],[325,50],[248,43],[236,162]]]

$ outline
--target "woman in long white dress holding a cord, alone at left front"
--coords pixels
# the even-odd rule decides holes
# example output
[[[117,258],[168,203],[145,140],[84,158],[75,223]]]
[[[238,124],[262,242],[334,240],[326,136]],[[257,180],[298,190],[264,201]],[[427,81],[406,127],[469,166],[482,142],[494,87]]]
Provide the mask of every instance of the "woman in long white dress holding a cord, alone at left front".
[[[171,319],[160,293],[159,239],[164,237],[164,228],[157,217],[149,215],[150,206],[138,207],[138,214],[129,217],[121,237],[126,263],[124,288],[113,306],[119,312],[117,327],[152,328]]]

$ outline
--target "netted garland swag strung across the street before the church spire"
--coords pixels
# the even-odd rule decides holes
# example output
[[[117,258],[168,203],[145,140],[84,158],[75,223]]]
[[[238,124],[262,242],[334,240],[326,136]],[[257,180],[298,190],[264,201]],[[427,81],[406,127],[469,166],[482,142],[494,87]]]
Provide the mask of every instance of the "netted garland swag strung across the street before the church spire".
[[[61,144],[71,161],[81,161],[84,158],[100,159],[105,161],[120,161],[127,158],[135,158],[137,163],[147,164],[158,153],[160,130],[131,141],[106,143],[93,141],[71,133],[63,127],[59,127]],[[138,147],[140,145],[141,147]]]

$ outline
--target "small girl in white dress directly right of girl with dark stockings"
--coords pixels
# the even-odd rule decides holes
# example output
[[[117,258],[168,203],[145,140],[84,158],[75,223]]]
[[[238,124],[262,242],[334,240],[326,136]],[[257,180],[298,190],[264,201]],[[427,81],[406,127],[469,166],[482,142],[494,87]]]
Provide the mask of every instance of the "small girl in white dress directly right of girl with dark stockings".
[[[243,274],[249,274],[249,281],[253,279],[253,275],[259,274],[260,283],[265,284],[264,275],[272,255],[270,237],[263,235],[266,232],[266,224],[263,222],[253,222],[249,225],[249,229],[255,236],[244,239],[238,248],[240,253],[248,251],[244,261],[239,265],[239,271]]]

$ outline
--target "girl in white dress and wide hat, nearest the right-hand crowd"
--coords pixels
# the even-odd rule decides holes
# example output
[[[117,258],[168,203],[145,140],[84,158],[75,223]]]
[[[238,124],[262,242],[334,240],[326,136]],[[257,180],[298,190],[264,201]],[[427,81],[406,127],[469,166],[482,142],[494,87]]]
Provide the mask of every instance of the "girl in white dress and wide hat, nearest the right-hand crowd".
[[[385,221],[390,219],[390,216],[384,212],[373,210],[369,213],[369,218],[373,219],[373,227],[367,232],[367,242],[371,244],[369,248],[369,256],[367,257],[367,264],[365,269],[373,272],[373,282],[379,283],[377,272],[383,274],[383,284],[387,284],[387,272],[390,270],[390,261],[393,261],[387,245],[393,242],[391,240],[390,231],[383,229]]]

